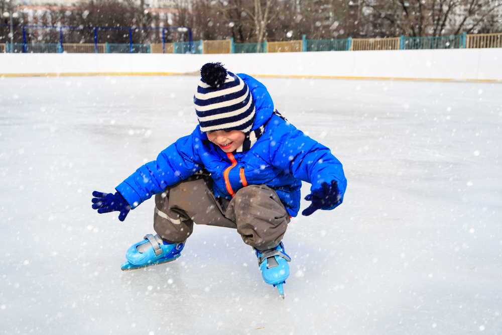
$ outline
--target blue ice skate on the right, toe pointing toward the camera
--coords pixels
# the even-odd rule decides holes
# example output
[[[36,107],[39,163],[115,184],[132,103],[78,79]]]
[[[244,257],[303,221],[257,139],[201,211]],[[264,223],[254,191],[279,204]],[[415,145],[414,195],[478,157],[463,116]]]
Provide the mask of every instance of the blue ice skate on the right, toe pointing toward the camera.
[[[286,279],[289,277],[288,262],[291,262],[291,258],[284,251],[283,243],[279,242],[277,246],[267,250],[255,249],[255,253],[263,280],[267,284],[277,286],[279,294],[284,299],[283,284],[286,284]]]

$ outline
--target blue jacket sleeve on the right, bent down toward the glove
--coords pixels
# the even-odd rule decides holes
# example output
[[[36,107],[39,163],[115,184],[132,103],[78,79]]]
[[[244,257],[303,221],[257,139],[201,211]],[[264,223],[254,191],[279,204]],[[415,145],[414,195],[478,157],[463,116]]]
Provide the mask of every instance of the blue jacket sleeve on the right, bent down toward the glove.
[[[340,201],[322,209],[333,209],[341,204],[347,188],[347,179],[342,164],[331,154],[329,148],[311,139],[288,122],[278,121],[276,117],[271,119],[271,122],[278,124],[274,133],[280,134],[277,140],[271,141],[271,164],[295,178],[312,184],[311,191],[321,188],[323,181],[329,184],[331,180],[336,180]]]

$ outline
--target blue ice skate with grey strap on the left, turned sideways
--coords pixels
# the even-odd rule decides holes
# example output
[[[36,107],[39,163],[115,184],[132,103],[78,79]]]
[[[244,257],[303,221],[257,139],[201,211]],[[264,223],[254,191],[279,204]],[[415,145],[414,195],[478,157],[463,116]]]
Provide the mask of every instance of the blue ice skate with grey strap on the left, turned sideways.
[[[159,235],[148,234],[143,241],[129,248],[126,253],[128,261],[120,265],[120,268],[123,271],[128,271],[171,262],[180,257],[184,247],[185,241],[167,243]]]

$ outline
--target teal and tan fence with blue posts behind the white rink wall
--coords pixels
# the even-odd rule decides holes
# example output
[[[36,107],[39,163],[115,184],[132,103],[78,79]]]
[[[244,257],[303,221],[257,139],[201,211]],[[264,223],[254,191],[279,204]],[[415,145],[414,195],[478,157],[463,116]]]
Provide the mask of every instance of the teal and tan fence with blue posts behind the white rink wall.
[[[0,25],[7,27],[5,25]],[[20,27],[20,26],[16,26]],[[57,29],[60,32],[58,43],[27,43],[26,28]],[[117,28],[129,30],[129,43],[108,44],[98,43],[97,31],[114,28],[107,27],[48,27],[48,26],[23,26],[23,43],[0,43],[0,52],[8,53],[190,53],[190,54],[220,54],[220,53],[256,53],[256,52],[316,52],[316,51],[363,51],[363,50],[417,50],[417,49],[465,49],[465,48],[500,48],[502,34],[467,34],[448,36],[423,36],[423,37],[388,37],[388,38],[351,38],[336,40],[307,40],[306,35],[302,40],[281,41],[264,43],[239,43],[234,44],[233,38],[215,41],[170,42],[158,44],[135,44],[131,37],[132,30],[136,28]],[[93,29],[94,43],[63,43],[61,29]],[[142,28],[165,29],[170,28]],[[186,28],[181,28],[185,29]],[[189,34],[190,35],[190,34]],[[191,36],[191,35],[190,35]],[[33,41],[32,41],[33,42]],[[2,51],[3,50],[3,51]]]

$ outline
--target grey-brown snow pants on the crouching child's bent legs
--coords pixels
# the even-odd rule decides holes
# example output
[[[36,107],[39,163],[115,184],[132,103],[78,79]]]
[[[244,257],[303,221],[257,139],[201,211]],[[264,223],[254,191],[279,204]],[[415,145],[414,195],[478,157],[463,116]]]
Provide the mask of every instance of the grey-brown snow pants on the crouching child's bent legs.
[[[245,186],[228,200],[214,197],[212,182],[197,174],[155,196],[154,230],[163,240],[186,240],[194,222],[237,229],[244,243],[261,250],[282,240],[290,216],[272,188]]]

